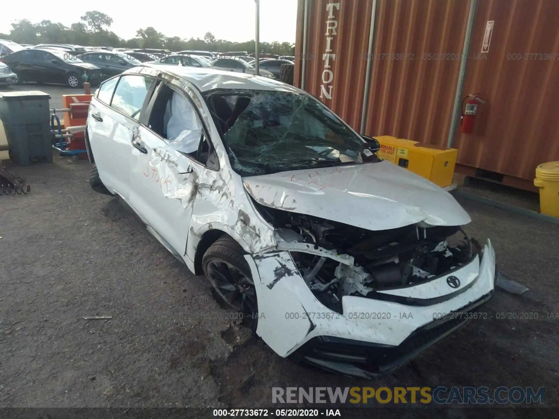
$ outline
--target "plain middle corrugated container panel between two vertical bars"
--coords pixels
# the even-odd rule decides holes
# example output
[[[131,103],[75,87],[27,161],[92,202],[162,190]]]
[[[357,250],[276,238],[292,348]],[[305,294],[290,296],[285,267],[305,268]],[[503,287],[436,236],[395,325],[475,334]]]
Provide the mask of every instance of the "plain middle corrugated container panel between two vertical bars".
[[[366,133],[446,145],[470,2],[379,0]]]

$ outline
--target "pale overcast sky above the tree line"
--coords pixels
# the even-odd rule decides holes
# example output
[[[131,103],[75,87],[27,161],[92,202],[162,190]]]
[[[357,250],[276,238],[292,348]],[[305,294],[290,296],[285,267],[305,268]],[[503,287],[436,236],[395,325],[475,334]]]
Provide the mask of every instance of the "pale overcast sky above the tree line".
[[[166,36],[203,38],[212,32],[216,39],[242,42],[254,39],[254,0],[182,0],[130,2],[95,0],[89,2],[47,2],[45,0],[2,1],[0,33],[10,33],[11,23],[29,19],[70,26],[80,16],[97,10],[112,17],[111,30],[124,39],[136,30],[153,26]],[[83,4],[83,6],[82,6]],[[154,7],[160,4],[161,8]],[[173,4],[171,7],[170,4]],[[260,41],[295,43],[297,0],[260,0]]]

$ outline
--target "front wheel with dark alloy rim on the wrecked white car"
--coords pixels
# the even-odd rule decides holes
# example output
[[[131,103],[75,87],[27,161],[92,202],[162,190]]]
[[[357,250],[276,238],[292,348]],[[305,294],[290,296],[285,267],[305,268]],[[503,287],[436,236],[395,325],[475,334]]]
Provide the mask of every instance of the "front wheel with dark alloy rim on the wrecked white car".
[[[214,288],[215,296],[226,306],[240,312],[243,322],[255,332],[258,324],[258,301],[244,254],[243,248],[230,236],[221,236],[203,255],[202,270]],[[216,272],[229,273],[225,275],[229,276],[229,283],[219,279]]]

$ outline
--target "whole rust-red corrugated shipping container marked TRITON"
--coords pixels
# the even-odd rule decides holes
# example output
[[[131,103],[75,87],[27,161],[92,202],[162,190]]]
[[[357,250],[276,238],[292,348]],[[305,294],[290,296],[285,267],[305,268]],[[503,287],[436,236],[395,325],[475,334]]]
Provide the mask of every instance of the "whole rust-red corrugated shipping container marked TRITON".
[[[559,1],[300,0],[295,84],[355,130],[458,148],[457,171],[534,190],[559,160]],[[463,99],[479,93],[472,134]]]

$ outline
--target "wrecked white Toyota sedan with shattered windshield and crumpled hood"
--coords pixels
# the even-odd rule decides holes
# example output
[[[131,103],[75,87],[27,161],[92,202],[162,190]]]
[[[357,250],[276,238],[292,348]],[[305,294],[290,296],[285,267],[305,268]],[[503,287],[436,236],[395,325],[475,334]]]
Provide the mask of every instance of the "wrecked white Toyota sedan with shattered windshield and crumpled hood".
[[[91,185],[205,274],[280,356],[374,377],[472,317],[495,254],[446,191],[323,103],[254,75],[143,66],[92,98]]]

